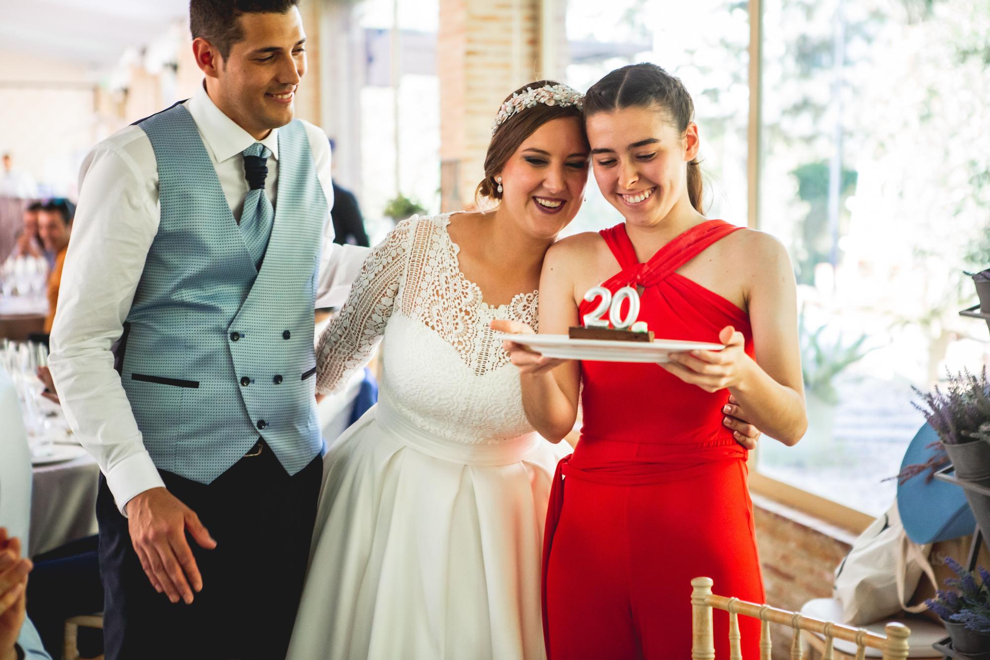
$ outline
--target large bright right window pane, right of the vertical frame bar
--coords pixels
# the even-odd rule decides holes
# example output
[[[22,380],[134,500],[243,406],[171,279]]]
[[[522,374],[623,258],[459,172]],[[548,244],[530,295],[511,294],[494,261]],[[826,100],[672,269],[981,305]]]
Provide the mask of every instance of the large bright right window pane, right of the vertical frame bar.
[[[794,263],[810,428],[758,471],[876,515],[924,422],[912,385],[990,362],[957,315],[990,265],[990,8],[761,5],[758,224]]]

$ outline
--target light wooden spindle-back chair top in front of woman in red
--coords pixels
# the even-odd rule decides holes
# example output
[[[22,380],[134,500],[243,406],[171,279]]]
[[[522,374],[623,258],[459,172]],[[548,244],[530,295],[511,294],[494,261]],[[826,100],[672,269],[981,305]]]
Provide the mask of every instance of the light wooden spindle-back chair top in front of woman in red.
[[[794,638],[791,643],[791,660],[802,660],[804,649],[801,631],[809,630],[825,635],[823,660],[836,660],[835,640],[843,639],[853,642],[856,646],[856,659],[865,657],[867,648],[875,648],[882,653],[883,660],[904,660],[908,657],[908,637],[911,630],[901,623],[888,623],[884,628],[886,635],[880,635],[863,629],[823,621],[800,612],[778,609],[770,605],[747,603],[736,598],[715,596],[712,594],[711,578],[695,578],[691,581],[692,632],[691,660],[715,659],[715,633],[712,627],[712,608],[725,609],[729,612],[729,647],[730,660],[743,660],[739,615],[758,618],[762,621],[759,635],[760,660],[770,660],[770,623],[782,623],[794,628]]]

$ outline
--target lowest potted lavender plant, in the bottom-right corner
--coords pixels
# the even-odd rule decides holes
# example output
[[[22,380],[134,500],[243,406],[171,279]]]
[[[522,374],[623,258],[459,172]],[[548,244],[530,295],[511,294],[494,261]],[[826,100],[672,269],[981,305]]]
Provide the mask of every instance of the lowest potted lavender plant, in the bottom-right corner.
[[[925,603],[939,614],[954,650],[973,660],[990,659],[990,572],[979,567],[977,583],[976,576],[959,562],[951,557],[945,557],[944,561],[956,575],[946,580],[945,585],[956,591],[939,590],[936,598]]]

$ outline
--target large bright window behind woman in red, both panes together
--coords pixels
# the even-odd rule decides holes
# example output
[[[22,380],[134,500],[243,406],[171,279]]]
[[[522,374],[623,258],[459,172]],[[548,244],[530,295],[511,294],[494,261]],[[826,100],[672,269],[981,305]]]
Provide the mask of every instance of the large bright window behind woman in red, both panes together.
[[[745,224],[758,182],[750,221],[784,243],[798,280],[810,429],[793,448],[764,439],[754,483],[855,527],[893,499],[884,480],[924,421],[912,386],[990,363],[985,325],[957,314],[975,298],[961,272],[990,266],[990,5],[753,5],[758,141],[748,2],[570,0],[566,81],[660,64],[695,100],[707,215]],[[593,180],[587,197],[568,233],[621,221]]]

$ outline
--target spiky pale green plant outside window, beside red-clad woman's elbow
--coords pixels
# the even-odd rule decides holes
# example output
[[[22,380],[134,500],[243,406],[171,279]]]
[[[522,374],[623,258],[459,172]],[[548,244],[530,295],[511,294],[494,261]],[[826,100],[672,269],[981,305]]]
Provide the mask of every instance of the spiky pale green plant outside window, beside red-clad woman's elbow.
[[[860,335],[851,343],[846,343],[842,333],[832,341],[826,341],[829,324],[809,331],[802,308],[799,317],[801,340],[801,375],[805,388],[829,403],[838,403],[835,380],[850,365],[863,359],[877,347],[863,348],[866,335]]]

